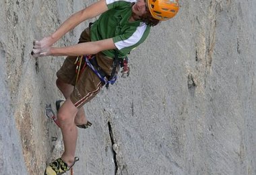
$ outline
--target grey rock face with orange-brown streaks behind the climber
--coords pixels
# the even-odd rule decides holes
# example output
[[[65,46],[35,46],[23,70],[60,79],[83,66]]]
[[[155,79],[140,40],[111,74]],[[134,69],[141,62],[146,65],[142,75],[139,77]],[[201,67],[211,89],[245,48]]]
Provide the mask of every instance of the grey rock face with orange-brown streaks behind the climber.
[[[61,155],[44,107],[63,98],[64,58],[34,59],[32,42],[92,2],[0,1],[0,174],[43,174]],[[84,106],[93,125],[79,129],[74,174],[256,174],[255,9],[181,1],[129,55],[131,75]],[[76,43],[88,23],[56,46]]]

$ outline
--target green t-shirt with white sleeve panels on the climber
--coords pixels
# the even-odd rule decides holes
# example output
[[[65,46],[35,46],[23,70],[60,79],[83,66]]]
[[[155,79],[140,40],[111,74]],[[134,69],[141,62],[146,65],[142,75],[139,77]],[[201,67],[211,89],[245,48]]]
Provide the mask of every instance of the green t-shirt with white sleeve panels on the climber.
[[[129,22],[134,0],[106,0],[108,11],[102,13],[91,27],[92,41],[113,38],[119,58],[126,57],[141,44],[150,33],[150,26],[144,22]],[[102,51],[107,57],[115,57],[115,50]]]

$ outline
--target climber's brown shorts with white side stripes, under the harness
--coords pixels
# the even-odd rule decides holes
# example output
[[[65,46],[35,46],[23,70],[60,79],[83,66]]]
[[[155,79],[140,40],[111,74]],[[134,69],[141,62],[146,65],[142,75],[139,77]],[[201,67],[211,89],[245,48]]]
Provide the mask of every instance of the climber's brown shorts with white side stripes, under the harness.
[[[86,30],[82,32],[79,38],[79,43],[81,42],[90,42],[90,28],[86,28]],[[86,66],[83,71],[80,71],[79,79],[77,79],[77,82],[75,83],[77,77],[77,65],[75,64],[76,59],[77,57],[67,57],[61,69],[57,71],[57,77],[63,82],[74,86],[70,99],[77,108],[80,108],[100,92],[103,84],[100,81],[100,78],[88,66]],[[96,54],[96,60],[105,73],[110,75],[113,59],[106,57],[102,53],[98,53]],[[81,67],[84,66],[84,63],[85,61],[83,60]]]

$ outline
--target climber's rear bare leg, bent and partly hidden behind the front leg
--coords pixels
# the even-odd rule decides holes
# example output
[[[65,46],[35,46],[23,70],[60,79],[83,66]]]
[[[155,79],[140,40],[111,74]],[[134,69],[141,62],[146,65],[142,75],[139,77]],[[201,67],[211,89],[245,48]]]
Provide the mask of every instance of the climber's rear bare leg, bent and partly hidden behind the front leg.
[[[70,94],[73,92],[73,85],[64,83],[61,79],[57,79],[56,81],[57,87],[61,90],[63,96],[67,99]],[[75,125],[83,125],[87,123],[86,114],[84,112],[84,108],[79,108],[76,116],[75,116]]]

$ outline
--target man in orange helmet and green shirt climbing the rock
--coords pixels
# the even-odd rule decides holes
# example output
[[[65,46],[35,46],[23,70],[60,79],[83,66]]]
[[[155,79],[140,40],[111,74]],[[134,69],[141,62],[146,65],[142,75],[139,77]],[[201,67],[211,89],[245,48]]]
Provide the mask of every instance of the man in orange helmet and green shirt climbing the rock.
[[[68,56],[57,72],[56,82],[66,98],[61,106],[57,103],[65,150],[44,174],[63,174],[75,164],[76,126],[91,125],[82,106],[103,85],[115,82],[119,63],[147,38],[151,26],[174,17],[178,11],[179,0],[100,0],[71,15],[50,36],[34,42],[34,57]],[[78,44],[53,47],[75,26],[98,15],[98,20],[82,32]]]

